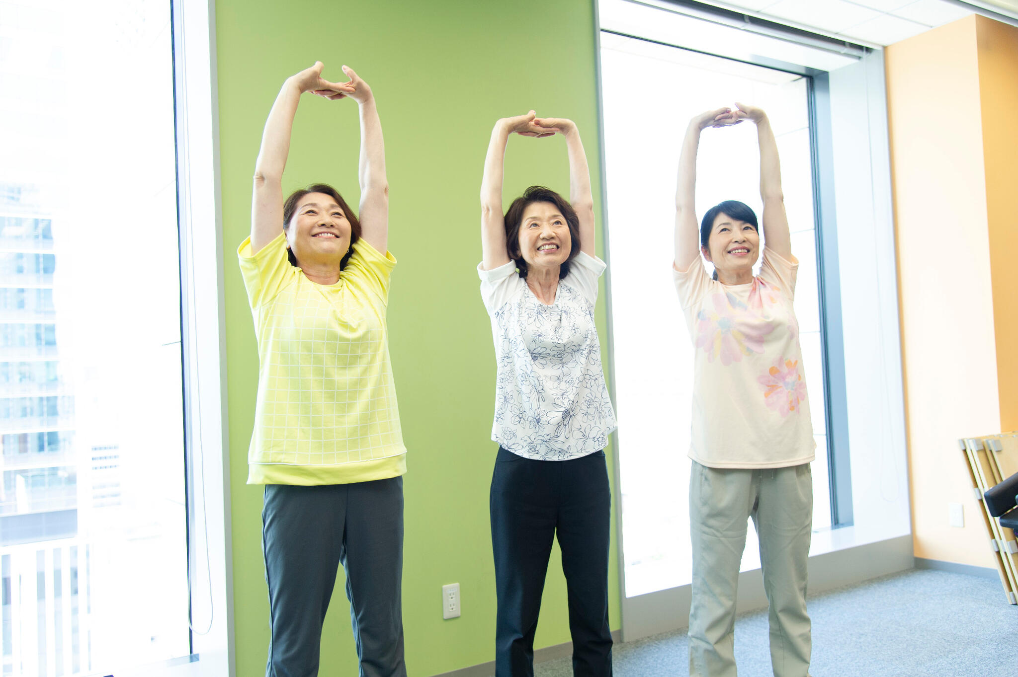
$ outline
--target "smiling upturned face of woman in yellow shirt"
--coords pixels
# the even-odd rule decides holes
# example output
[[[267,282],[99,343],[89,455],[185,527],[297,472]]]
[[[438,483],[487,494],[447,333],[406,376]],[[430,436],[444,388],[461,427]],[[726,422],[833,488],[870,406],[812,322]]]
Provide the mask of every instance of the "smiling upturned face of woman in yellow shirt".
[[[350,222],[327,193],[307,193],[286,228],[286,244],[300,263],[336,264],[350,248]]]

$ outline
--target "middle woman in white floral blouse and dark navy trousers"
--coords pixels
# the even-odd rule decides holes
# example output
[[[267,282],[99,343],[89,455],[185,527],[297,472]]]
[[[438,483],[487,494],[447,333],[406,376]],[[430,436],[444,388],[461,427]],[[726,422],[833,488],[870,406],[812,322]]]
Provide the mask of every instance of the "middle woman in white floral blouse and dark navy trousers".
[[[503,159],[514,133],[565,137],[569,201],[531,186],[503,217]],[[477,273],[498,363],[491,490],[496,675],[533,674],[533,634],[556,536],[574,674],[611,675],[604,448],[615,414],[593,319],[605,263],[595,253],[590,176],[570,120],[530,111],[495,124],[480,186],[480,242]]]

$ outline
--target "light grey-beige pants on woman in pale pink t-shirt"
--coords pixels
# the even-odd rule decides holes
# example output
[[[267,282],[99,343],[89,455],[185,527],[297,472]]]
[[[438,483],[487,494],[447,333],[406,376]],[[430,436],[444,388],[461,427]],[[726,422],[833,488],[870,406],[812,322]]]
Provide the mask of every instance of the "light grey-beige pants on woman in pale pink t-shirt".
[[[813,521],[809,464],[720,470],[693,461],[689,476],[693,551],[689,674],[736,676],[735,597],[749,517],[759,537],[775,677],[808,677],[806,558]]]

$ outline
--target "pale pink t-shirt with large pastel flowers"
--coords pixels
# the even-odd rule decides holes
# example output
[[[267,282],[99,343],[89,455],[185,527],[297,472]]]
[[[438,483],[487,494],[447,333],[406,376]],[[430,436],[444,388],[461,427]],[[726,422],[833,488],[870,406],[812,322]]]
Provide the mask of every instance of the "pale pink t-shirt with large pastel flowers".
[[[693,342],[689,457],[710,468],[783,468],[813,459],[799,323],[799,263],[767,247],[745,285],[712,280],[696,260],[675,289]]]

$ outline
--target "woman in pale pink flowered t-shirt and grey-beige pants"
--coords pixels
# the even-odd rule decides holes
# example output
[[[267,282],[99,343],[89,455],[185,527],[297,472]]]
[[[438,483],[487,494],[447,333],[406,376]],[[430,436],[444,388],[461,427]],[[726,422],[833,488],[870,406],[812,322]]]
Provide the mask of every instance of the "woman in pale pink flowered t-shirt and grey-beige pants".
[[[771,605],[776,677],[807,677],[806,558],[812,527],[812,425],[792,308],[798,261],[767,115],[737,104],[693,118],[679,160],[675,287],[695,347],[689,519],[691,677],[735,675],[733,627],[739,563],[752,517]],[[735,200],[693,209],[700,131],[756,124],[764,246],[756,216]],[[733,160],[737,162],[737,160]],[[724,177],[712,177],[724,180]],[[714,264],[708,275],[700,254]],[[753,265],[761,258],[759,274]]]

